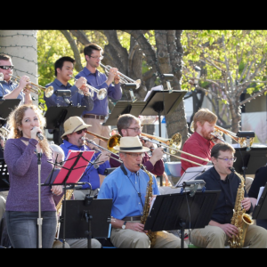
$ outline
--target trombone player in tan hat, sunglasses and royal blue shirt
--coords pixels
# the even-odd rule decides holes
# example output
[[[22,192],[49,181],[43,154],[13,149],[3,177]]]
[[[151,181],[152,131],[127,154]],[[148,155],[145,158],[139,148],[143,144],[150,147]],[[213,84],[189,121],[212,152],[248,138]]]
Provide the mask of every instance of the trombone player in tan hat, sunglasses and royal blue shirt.
[[[88,126],[81,117],[69,117],[64,122],[64,134],[61,138],[63,143],[61,143],[61,149],[64,151],[65,159],[69,153],[69,150],[82,150],[88,151],[89,147],[85,145],[85,131]],[[99,156],[100,152],[93,155],[91,162]],[[83,185],[81,190],[74,191],[75,199],[83,200],[85,195],[90,194],[94,196],[101,186],[99,174],[104,174],[106,168],[109,168],[109,152],[101,152],[101,156],[97,159],[97,164],[89,163],[79,182],[87,182]],[[88,184],[90,183],[90,184]],[[92,188],[91,188],[92,187]]]

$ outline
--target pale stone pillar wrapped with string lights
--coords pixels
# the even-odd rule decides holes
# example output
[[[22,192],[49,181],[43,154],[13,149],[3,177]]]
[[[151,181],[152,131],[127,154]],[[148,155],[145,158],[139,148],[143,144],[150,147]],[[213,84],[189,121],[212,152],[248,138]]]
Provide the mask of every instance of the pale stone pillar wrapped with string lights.
[[[37,79],[37,39],[36,30],[0,30],[0,53],[12,57],[13,76],[27,75],[30,81],[38,84]],[[38,95],[31,93],[35,105]]]

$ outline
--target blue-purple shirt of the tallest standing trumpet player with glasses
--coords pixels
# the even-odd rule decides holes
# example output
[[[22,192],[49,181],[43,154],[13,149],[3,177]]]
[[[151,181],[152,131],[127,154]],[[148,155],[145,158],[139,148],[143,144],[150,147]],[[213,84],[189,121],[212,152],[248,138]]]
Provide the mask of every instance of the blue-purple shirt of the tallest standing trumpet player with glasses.
[[[85,77],[87,83],[93,86],[96,89],[105,88],[108,91],[108,96],[115,99],[120,100],[122,97],[122,91],[120,88],[120,84],[112,85],[112,83],[108,86],[106,80],[108,77],[104,73],[99,72],[97,69],[95,73],[92,73],[86,67],[80,71],[76,78]],[[83,114],[96,114],[107,116],[109,114],[109,104],[108,97],[106,96],[103,100],[99,100],[96,97],[96,93],[93,93],[93,109],[91,111],[84,111]]]

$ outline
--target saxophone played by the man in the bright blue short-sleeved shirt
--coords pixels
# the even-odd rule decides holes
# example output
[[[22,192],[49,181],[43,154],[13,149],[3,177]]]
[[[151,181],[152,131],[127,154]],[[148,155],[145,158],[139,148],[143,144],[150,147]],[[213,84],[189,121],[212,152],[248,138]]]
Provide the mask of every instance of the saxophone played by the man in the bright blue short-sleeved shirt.
[[[153,188],[152,188],[153,176],[152,176],[152,174],[150,174],[149,171],[147,171],[145,166],[143,166],[141,164],[140,167],[150,177],[150,181],[148,182],[147,191],[146,191],[145,203],[144,203],[143,210],[142,210],[142,217],[141,217],[141,223],[145,224],[147,221],[147,218],[150,214],[150,198],[152,198],[152,196],[153,196]],[[149,230],[147,235],[150,239],[151,246],[154,245],[154,243],[156,241],[156,237],[157,237],[157,231],[150,231]]]

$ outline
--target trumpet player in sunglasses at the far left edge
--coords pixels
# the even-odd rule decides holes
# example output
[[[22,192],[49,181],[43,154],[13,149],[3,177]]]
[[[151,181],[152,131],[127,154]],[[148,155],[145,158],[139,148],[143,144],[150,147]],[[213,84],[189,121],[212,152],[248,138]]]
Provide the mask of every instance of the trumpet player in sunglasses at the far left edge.
[[[18,84],[13,83],[11,77],[13,68],[11,57],[0,54],[0,75],[3,75],[3,80],[0,79],[0,99],[20,99],[20,103],[32,104],[30,91],[26,88],[26,85],[30,84],[29,77],[22,76]]]

